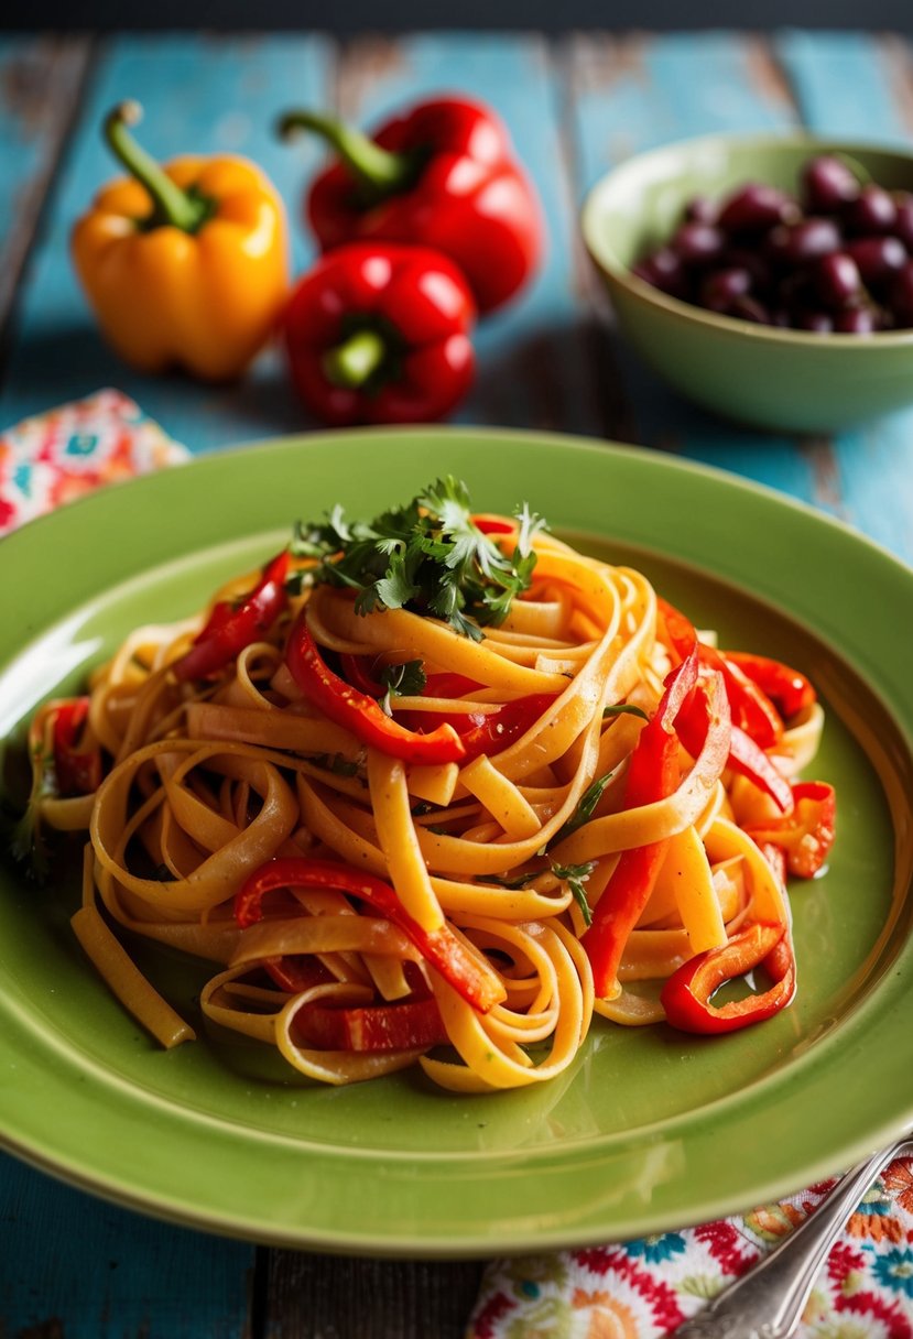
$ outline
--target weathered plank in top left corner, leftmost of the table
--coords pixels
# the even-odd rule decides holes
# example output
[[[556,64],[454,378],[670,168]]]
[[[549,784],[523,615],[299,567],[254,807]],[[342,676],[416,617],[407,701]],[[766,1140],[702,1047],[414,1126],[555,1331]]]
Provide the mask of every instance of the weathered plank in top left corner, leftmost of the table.
[[[19,280],[86,76],[86,37],[0,40],[0,356]]]

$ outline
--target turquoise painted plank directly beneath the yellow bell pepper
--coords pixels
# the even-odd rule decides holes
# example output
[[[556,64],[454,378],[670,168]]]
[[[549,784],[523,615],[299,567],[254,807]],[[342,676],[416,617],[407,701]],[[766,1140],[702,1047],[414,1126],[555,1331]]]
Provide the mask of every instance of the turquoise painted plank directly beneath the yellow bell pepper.
[[[25,284],[13,349],[0,392],[0,426],[103,386],[137,399],[194,451],[295,431],[312,424],[289,391],[276,356],[234,387],[201,387],[181,376],[142,376],[102,343],[68,257],[68,234],[98,187],[118,175],[100,142],[104,112],[137,98],[146,115],[138,134],[162,159],[181,153],[238,153],[258,162],[295,209],[316,151],[281,145],[273,126],[289,102],[323,103],[333,74],[321,37],[131,37],[104,47],[55,182]],[[292,220],[296,269],[312,248]],[[52,370],[52,375],[51,374]]]

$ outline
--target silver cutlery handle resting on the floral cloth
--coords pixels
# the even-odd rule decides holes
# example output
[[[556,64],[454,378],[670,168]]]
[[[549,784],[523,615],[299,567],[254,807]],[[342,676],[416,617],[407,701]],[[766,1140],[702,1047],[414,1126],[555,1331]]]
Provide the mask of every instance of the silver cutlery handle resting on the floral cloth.
[[[795,1232],[691,1320],[675,1339],[788,1339],[841,1229],[878,1173],[913,1154],[913,1139],[898,1139],[851,1168]]]

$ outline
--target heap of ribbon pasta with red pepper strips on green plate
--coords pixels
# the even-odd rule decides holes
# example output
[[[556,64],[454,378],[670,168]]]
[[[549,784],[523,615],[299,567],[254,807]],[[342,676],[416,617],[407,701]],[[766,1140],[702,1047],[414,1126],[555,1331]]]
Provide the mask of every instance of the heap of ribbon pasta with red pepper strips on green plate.
[[[473,533],[510,553],[519,525]],[[814,692],[778,665],[802,686],[778,703],[774,661],[685,644],[640,572],[529,546],[471,635],[408,601],[364,612],[285,554],[37,714],[32,817],[86,834],[74,929],[163,1044],[194,1034],[111,925],[212,961],[202,1019],[333,1085],[415,1063],[456,1093],[542,1082],[592,1026],[676,1022],[697,964],[774,981],[697,994],[707,1031],[788,1003],[784,870],[833,836],[830,787],[794,783]]]

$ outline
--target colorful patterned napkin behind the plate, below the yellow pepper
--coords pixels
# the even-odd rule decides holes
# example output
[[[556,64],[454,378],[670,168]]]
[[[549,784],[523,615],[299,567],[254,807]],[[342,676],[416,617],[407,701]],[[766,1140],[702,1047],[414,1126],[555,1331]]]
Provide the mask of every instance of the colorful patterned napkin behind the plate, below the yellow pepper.
[[[0,432],[0,536],[103,483],[189,458],[120,391],[36,414]]]

